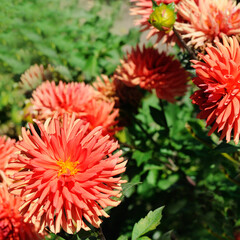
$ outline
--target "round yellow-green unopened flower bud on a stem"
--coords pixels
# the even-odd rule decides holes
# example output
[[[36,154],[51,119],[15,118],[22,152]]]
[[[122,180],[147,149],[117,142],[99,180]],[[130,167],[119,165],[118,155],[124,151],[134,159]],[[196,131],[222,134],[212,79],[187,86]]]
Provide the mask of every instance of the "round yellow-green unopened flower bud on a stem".
[[[154,7],[154,11],[149,16],[148,21],[158,30],[168,33],[172,30],[176,18],[174,3],[168,5],[161,3],[159,6]]]

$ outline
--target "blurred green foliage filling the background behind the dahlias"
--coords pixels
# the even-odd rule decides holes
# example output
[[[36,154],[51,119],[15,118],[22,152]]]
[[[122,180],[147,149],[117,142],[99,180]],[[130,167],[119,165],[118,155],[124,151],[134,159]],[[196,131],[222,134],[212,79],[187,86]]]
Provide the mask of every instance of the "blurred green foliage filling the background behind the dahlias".
[[[19,81],[31,65],[51,64],[57,80],[65,81],[92,82],[114,72],[124,51],[140,37],[137,28],[117,34],[123,4],[129,3],[1,0],[1,134],[16,138],[25,124],[26,96]],[[128,183],[123,202],[102,224],[106,239],[131,239],[134,224],[160,206],[165,206],[160,225],[141,239],[234,239],[240,180],[239,162],[232,157],[239,159],[238,147],[219,144],[216,135],[207,137],[189,99],[192,92],[189,87],[176,104],[146,94],[134,123],[118,133],[129,159]]]

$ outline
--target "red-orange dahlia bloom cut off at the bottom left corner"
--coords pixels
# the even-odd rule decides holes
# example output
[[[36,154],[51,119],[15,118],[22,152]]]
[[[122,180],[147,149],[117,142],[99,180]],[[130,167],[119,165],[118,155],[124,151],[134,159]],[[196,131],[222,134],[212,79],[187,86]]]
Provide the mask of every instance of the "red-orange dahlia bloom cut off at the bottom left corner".
[[[0,183],[0,240],[44,239],[31,223],[25,223],[18,211],[21,198],[8,193]]]

